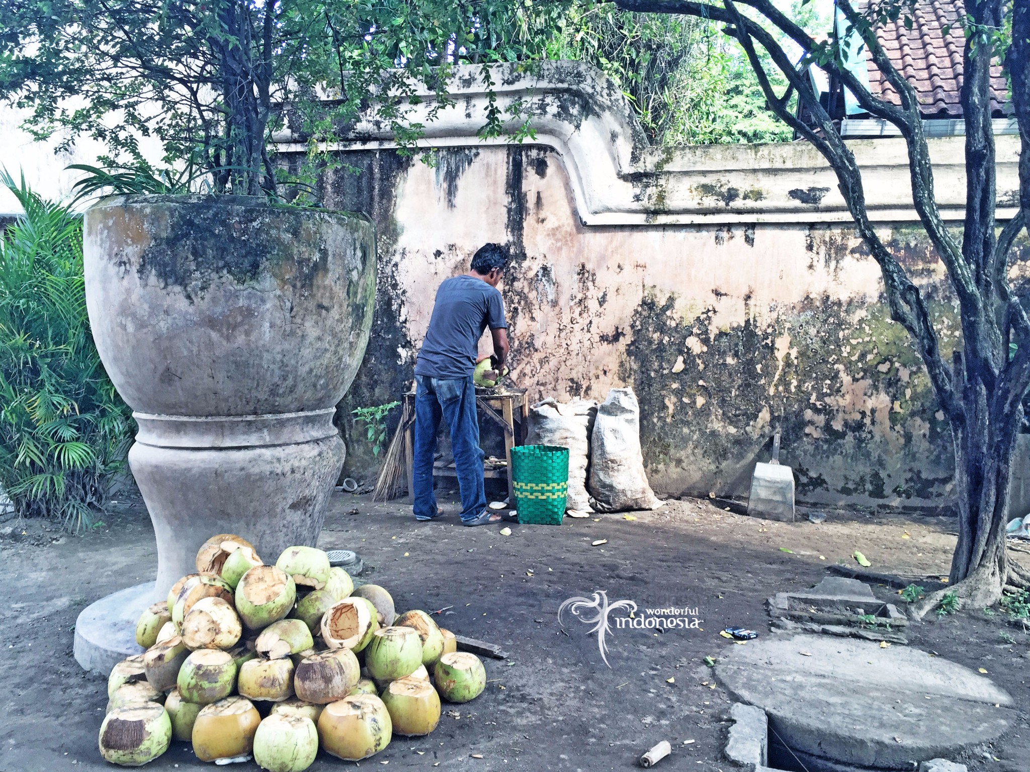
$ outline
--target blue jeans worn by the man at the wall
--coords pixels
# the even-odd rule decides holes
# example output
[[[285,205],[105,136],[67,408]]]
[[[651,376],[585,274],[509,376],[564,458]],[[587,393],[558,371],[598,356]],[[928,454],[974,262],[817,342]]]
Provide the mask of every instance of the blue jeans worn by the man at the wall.
[[[472,376],[441,379],[415,376],[415,448],[412,495],[415,517],[428,520],[437,515],[433,492],[433,461],[441,419],[450,427],[454,469],[461,492],[461,520],[479,517],[486,508],[483,486],[483,450],[479,447],[476,418],[476,387]]]

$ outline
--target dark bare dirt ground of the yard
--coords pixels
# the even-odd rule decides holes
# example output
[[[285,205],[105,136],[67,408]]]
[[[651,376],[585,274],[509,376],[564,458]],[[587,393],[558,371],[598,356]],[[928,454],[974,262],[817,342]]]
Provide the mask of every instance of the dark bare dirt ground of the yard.
[[[685,499],[655,513],[566,518],[560,527],[459,527],[457,506],[416,523],[400,504],[334,496],[320,546],[356,550],[365,577],[389,589],[400,609],[450,606],[441,625],[501,644],[486,660],[487,689],[474,702],[444,706],[425,738],[397,737],[369,762],[320,755],[313,770],[388,763],[390,769],[627,770],[660,740],[673,745],[661,769],[728,772],[722,756],[729,701],[705,666],[732,642],[728,626],[769,634],[765,599],[809,587],[860,550],[873,569],[947,573],[955,537],[945,518],[827,511],[825,523],[783,524],[726,511],[728,502]],[[102,678],[72,658],[76,615],[93,600],[152,576],[149,519],[123,502],[83,537],[39,522],[7,521],[0,538],[0,770],[101,769],[97,733],[106,703]],[[803,516],[803,513],[802,513]],[[24,532],[24,533],[23,533]],[[608,539],[598,547],[596,539]],[[787,552],[789,551],[789,552]],[[887,597],[885,588],[874,588]],[[663,634],[613,630],[608,665],[582,620],[558,623],[558,606],[604,590],[640,609],[696,608],[696,629]],[[897,596],[894,596],[895,600]],[[911,644],[985,668],[1021,710],[1021,726],[965,759],[970,770],[1030,768],[1030,636],[982,611],[918,625]],[[475,756],[474,756],[475,755]],[[482,758],[477,758],[482,757]],[[151,765],[201,769],[186,745]],[[236,769],[256,769],[252,764]]]

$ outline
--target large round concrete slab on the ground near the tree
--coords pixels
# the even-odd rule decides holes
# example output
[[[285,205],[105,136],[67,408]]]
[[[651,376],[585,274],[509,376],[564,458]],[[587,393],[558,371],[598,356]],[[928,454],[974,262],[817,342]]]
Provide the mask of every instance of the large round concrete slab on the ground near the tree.
[[[1008,694],[968,668],[851,638],[733,646],[716,675],[791,748],[842,765],[911,770],[993,740],[1017,717]]]

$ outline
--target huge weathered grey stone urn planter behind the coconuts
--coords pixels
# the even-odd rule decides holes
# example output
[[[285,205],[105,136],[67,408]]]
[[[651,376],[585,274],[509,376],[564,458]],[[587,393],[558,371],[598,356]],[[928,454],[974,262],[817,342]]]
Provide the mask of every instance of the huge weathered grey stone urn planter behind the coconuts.
[[[83,251],[158,542],[157,582],[133,602],[164,598],[215,533],[266,561],[314,545],[345,455],[334,408],[372,325],[373,225],[262,198],[111,197],[87,212]]]

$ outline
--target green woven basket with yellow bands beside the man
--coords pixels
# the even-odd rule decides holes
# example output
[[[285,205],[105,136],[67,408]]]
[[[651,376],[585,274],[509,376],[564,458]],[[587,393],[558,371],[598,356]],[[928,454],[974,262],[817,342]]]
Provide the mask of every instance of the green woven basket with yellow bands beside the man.
[[[553,445],[512,448],[512,488],[518,522],[561,525],[569,497],[569,449]]]

